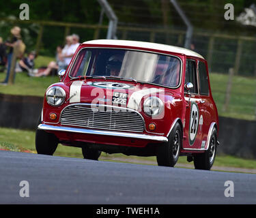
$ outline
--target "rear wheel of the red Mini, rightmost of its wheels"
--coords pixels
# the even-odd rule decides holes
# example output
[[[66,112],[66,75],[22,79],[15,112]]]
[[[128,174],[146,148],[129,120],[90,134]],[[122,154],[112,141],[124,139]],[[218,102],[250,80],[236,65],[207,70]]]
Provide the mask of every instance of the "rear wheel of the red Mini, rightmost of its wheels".
[[[210,138],[207,151],[194,156],[194,166],[197,170],[210,170],[214,163],[217,151],[217,131],[214,129]]]

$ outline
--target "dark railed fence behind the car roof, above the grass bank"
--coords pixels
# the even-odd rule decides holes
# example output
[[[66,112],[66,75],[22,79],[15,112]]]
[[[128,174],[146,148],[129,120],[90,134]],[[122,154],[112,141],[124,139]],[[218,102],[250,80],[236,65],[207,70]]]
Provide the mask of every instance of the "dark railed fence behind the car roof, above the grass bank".
[[[81,36],[81,42],[84,42],[106,38],[108,28],[106,25],[86,25],[68,22],[0,20],[0,22],[3,21],[7,22],[9,27],[22,25],[23,29],[26,29],[26,33],[29,32],[27,35],[33,36],[27,40],[29,41],[27,42],[28,48],[33,48],[43,55],[44,53],[54,54],[56,46],[63,44],[66,35],[70,33],[78,33]],[[31,27],[33,28],[31,29]],[[186,31],[176,29],[117,27],[117,37],[122,40],[141,40],[184,46],[185,35]],[[227,74],[229,68],[233,68],[235,75],[256,76],[256,37],[195,30],[193,46],[196,52],[199,52],[208,60],[210,72]]]

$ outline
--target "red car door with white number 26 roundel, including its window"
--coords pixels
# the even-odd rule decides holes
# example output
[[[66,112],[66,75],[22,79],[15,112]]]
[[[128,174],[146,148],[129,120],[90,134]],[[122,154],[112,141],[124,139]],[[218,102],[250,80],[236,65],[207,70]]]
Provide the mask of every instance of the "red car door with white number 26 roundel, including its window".
[[[184,90],[184,98],[186,101],[185,127],[184,127],[184,149],[200,149],[202,131],[199,129],[202,99],[199,95],[199,82],[197,72],[197,60],[186,60],[185,84],[191,82],[193,88]]]

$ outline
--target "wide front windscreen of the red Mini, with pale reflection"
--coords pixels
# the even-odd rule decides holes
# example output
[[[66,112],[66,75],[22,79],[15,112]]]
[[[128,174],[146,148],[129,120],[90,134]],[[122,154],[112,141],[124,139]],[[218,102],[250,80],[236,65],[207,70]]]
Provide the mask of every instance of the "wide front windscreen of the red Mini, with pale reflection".
[[[111,76],[167,87],[180,83],[181,61],[170,55],[111,48],[84,48],[72,66],[70,77]]]

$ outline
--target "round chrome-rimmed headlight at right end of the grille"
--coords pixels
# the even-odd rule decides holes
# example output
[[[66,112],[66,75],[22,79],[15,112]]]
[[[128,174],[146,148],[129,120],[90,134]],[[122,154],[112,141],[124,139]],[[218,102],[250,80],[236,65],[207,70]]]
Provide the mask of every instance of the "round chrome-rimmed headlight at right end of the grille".
[[[164,103],[158,97],[148,97],[143,104],[144,112],[149,116],[156,116],[164,109]]]

